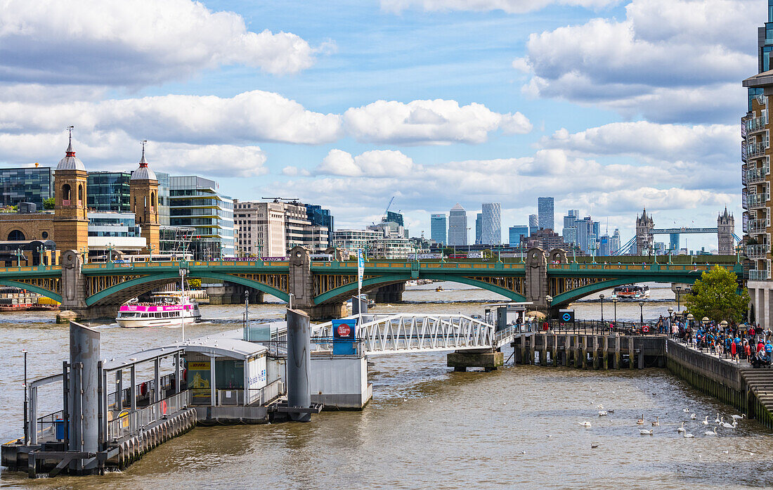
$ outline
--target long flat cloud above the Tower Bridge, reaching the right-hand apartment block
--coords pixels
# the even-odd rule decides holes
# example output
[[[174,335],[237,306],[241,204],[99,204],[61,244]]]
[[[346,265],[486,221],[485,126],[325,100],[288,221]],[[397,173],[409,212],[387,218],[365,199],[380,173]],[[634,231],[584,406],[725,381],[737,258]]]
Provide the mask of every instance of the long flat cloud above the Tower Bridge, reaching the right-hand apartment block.
[[[574,134],[562,128],[540,140],[540,146],[575,155],[625,155],[660,162],[733,162],[739,144],[737,126],[648,121],[604,124]]]

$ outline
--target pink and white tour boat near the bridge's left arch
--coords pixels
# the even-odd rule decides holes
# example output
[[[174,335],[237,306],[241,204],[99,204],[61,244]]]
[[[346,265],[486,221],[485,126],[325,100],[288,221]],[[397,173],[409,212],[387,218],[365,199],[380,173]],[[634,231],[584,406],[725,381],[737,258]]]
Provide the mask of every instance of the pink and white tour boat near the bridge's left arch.
[[[115,321],[125,328],[175,327],[201,320],[199,304],[187,296],[157,296],[152,303],[130,301],[121,305]]]

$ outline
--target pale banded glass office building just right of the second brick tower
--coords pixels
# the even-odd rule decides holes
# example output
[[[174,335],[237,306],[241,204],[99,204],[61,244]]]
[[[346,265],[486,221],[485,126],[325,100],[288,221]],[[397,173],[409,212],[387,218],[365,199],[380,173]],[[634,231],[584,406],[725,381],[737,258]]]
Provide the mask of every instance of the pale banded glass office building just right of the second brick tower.
[[[217,182],[195,175],[169,178],[169,221],[193,228],[190,250],[200,260],[233,257],[233,199]]]

